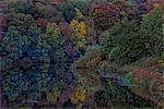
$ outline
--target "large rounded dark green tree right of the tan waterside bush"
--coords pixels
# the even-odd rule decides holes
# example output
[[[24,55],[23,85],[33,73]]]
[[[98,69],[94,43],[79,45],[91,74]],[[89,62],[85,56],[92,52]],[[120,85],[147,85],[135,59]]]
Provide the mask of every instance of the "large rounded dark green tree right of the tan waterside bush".
[[[124,19],[104,37],[103,49],[112,61],[128,64],[148,55],[145,43],[147,38],[140,36],[137,22]]]

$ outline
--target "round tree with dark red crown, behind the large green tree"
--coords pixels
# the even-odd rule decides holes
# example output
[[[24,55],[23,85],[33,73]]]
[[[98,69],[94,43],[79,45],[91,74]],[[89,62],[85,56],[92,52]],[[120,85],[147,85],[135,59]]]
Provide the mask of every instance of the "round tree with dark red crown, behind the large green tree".
[[[105,31],[113,26],[119,19],[119,13],[116,7],[109,3],[95,4],[91,10],[90,16],[94,21],[97,29]]]

